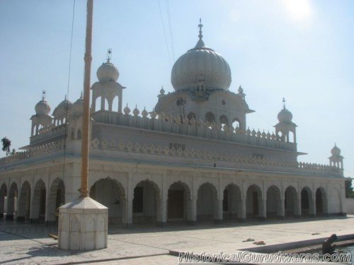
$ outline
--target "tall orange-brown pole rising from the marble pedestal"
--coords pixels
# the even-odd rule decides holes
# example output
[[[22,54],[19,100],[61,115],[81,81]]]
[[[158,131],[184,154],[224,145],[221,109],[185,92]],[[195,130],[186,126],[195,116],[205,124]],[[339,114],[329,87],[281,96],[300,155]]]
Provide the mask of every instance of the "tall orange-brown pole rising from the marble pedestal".
[[[85,76],[84,76],[84,117],[82,120],[81,143],[81,197],[89,196],[89,131],[90,131],[90,79],[91,79],[91,45],[92,45],[92,18],[93,0],[87,0],[86,18],[86,51],[85,51]]]

